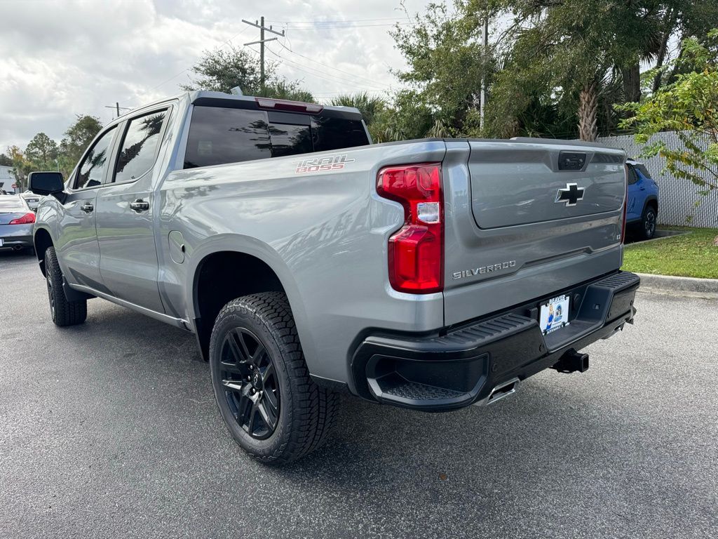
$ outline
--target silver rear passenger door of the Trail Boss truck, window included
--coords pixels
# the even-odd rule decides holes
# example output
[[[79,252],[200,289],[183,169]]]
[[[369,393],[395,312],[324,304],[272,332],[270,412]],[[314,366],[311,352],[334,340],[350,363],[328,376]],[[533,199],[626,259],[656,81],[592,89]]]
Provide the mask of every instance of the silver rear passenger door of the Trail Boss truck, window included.
[[[114,183],[100,190],[97,234],[100,270],[116,298],[164,313],[157,287],[152,168],[167,110],[131,119],[118,144]]]

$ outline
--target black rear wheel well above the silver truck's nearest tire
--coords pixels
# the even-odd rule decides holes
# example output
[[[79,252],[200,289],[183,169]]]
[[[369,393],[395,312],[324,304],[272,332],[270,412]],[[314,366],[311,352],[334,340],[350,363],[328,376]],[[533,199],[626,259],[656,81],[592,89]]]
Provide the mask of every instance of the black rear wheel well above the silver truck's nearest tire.
[[[284,292],[279,277],[251,254],[223,251],[202,259],[195,272],[194,303],[197,341],[205,361],[220,310],[243,295],[271,291]]]

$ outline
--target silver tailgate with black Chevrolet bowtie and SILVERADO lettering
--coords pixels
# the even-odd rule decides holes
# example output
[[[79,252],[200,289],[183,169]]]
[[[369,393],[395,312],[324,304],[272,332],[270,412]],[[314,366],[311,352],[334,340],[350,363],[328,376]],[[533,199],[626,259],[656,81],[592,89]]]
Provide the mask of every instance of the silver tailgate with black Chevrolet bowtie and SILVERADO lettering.
[[[623,151],[600,144],[447,141],[444,322],[617,270],[624,162]]]

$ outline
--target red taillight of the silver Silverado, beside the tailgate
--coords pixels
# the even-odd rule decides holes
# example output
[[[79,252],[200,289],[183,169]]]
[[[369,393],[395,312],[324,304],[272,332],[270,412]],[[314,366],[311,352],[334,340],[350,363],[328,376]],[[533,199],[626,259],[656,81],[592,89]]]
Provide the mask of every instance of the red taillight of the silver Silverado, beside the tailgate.
[[[404,206],[404,226],[389,238],[394,290],[429,294],[444,289],[444,202],[441,163],[386,167],[376,190]]]

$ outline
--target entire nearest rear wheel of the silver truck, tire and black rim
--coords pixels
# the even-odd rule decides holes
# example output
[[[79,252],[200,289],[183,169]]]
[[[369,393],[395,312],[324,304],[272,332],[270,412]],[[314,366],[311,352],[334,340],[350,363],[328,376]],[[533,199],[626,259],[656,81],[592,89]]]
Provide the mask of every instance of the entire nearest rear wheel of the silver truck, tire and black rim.
[[[231,435],[266,463],[285,464],[325,441],[338,397],[309,377],[281,292],[230,301],[210,338],[215,398]]]

